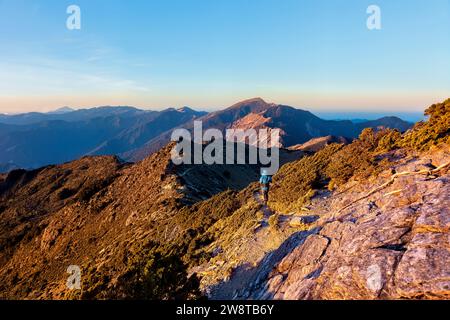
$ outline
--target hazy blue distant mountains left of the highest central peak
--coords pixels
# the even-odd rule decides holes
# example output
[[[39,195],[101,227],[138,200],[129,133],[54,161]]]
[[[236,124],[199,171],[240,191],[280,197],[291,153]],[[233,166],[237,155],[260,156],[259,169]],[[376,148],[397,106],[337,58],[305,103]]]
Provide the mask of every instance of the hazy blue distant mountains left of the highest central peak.
[[[100,107],[3,116],[0,117],[0,164],[38,168],[86,155],[116,155],[204,114],[189,108],[157,112]]]

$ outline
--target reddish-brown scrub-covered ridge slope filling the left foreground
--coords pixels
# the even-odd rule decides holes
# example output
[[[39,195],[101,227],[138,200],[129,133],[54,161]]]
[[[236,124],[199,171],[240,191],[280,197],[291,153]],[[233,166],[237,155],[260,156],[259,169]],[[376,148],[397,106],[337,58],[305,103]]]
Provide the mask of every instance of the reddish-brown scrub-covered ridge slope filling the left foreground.
[[[0,298],[65,298],[70,265],[117,279],[135,246],[186,241],[195,237],[191,223],[215,222],[211,212],[196,221],[187,208],[221,192],[235,197],[226,190],[258,179],[255,165],[175,166],[172,148],[137,164],[84,157],[0,175]],[[282,151],[281,158],[302,155]]]

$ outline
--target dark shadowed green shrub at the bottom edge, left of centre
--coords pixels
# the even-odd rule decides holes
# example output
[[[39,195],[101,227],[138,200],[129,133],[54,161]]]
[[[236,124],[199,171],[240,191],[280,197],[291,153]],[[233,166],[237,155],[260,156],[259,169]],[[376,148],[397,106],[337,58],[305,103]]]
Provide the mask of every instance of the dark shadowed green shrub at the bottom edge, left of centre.
[[[81,299],[188,300],[201,297],[196,275],[188,277],[180,253],[157,243],[132,249],[125,272],[114,282],[95,268],[84,276]]]

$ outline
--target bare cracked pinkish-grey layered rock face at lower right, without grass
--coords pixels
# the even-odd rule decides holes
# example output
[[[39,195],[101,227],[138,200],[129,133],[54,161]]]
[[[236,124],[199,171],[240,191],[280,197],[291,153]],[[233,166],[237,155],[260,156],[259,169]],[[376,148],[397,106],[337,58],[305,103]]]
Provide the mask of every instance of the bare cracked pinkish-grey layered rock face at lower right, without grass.
[[[324,199],[328,212],[316,228],[293,250],[277,252],[282,258],[264,258],[259,270],[270,271],[249,280],[237,298],[450,298],[450,175],[445,168],[415,173],[449,160],[448,148],[409,158],[395,168],[399,178],[363,200],[355,202],[391,172]]]

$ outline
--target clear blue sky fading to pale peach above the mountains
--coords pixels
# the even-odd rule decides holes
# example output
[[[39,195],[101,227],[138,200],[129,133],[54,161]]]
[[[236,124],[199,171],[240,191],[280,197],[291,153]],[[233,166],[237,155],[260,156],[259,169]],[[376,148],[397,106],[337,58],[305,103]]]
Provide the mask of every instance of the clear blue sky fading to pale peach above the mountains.
[[[0,0],[0,43],[3,113],[256,96],[410,112],[450,97],[450,0]]]

